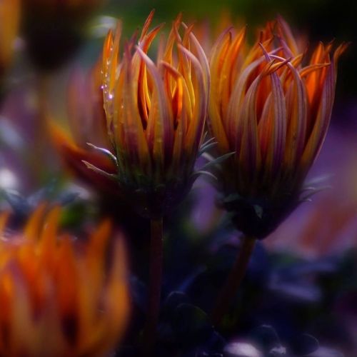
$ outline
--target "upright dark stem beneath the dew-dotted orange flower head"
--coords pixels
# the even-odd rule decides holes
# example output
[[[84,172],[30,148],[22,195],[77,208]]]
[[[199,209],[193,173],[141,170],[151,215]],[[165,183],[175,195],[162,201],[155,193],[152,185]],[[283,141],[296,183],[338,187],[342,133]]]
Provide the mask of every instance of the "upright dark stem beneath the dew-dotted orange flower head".
[[[144,328],[144,348],[150,355],[154,348],[159,321],[163,262],[163,218],[151,219],[149,305]]]

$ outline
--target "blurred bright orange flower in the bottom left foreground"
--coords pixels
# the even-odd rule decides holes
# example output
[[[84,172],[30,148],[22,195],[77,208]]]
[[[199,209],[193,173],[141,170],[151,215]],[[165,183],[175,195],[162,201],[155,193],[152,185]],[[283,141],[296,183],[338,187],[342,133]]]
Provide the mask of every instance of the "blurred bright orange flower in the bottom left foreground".
[[[57,232],[60,209],[33,213],[24,231],[0,216],[1,356],[102,356],[129,313],[121,240],[106,263],[109,221],[81,244]]]

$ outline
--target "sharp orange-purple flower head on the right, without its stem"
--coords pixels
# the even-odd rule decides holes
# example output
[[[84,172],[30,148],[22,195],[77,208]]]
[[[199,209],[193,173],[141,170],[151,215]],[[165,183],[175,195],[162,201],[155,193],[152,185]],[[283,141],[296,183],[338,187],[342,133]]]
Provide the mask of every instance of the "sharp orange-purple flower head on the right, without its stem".
[[[221,191],[248,235],[267,236],[306,198],[303,180],[326,136],[346,44],[332,47],[318,44],[306,61],[283,19],[253,46],[245,28],[228,29],[213,46],[208,124],[219,153],[235,152],[223,163]]]

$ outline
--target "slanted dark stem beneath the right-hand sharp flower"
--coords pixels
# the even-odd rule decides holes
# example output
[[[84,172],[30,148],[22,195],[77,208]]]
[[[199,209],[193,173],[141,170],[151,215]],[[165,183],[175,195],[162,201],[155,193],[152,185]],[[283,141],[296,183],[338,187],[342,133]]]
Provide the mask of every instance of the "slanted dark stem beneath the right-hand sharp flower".
[[[236,261],[233,268],[226,279],[221,291],[218,293],[216,305],[212,312],[212,321],[214,325],[218,326],[221,323],[221,319],[228,311],[229,306],[233,302],[234,296],[238,291],[244,276],[246,275],[246,269],[253,253],[254,246],[256,245],[256,238],[251,236],[244,236],[241,243],[241,248],[238,251]]]

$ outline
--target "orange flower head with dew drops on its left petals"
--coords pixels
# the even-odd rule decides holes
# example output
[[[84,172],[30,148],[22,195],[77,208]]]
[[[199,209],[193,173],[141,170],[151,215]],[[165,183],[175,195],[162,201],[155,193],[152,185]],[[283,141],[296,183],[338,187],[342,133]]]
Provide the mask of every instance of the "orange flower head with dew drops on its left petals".
[[[144,24],[119,55],[121,26],[109,32],[103,51],[104,109],[117,174],[111,175],[144,216],[162,216],[186,195],[197,175],[208,103],[208,62],[178,17],[156,64],[147,52],[161,26]],[[190,48],[192,48],[190,50]],[[103,151],[103,149],[101,149]],[[96,170],[95,163],[88,166]],[[97,171],[97,170],[96,170]],[[102,173],[103,174],[103,173]]]

